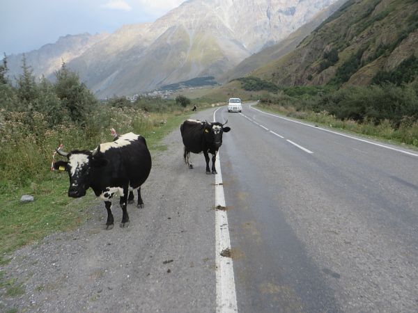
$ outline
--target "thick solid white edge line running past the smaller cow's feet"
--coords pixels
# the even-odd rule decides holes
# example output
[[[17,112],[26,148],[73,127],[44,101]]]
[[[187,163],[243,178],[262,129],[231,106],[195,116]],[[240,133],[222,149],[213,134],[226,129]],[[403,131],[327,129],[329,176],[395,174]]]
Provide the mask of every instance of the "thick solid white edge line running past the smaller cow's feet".
[[[214,121],[215,113],[219,109],[213,113]],[[215,175],[215,207],[226,207],[219,152],[215,161],[215,167],[218,172],[217,175]],[[231,250],[228,216],[224,210],[215,209],[215,241],[216,312],[238,312],[235,279],[233,276],[233,261],[230,257],[223,257],[221,255],[222,251],[226,249]]]

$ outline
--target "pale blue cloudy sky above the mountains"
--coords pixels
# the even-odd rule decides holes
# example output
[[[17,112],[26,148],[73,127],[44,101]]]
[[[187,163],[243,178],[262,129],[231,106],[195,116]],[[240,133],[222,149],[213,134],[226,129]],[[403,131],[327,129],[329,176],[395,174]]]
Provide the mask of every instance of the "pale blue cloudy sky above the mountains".
[[[0,58],[39,49],[60,36],[113,33],[154,22],[185,0],[1,0]]]

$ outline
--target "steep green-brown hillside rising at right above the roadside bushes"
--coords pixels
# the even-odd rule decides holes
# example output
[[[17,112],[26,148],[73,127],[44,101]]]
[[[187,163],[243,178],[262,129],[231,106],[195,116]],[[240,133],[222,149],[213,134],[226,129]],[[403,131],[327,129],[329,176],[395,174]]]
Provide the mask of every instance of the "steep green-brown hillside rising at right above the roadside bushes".
[[[281,86],[366,85],[418,67],[417,51],[418,1],[349,0],[295,50],[252,74]]]

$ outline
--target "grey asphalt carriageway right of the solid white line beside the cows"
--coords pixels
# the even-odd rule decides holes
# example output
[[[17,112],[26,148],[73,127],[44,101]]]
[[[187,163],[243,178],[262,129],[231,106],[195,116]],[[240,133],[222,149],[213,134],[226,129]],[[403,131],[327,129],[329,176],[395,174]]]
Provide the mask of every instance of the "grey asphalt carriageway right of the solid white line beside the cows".
[[[418,153],[248,104],[226,119],[238,311],[417,312]]]

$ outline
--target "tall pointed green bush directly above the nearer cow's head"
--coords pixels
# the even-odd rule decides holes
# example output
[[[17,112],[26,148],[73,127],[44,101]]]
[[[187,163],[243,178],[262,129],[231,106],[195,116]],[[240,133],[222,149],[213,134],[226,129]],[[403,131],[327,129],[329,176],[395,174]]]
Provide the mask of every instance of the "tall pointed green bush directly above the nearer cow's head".
[[[94,95],[79,81],[78,74],[71,72],[65,63],[56,71],[55,76],[54,89],[56,96],[61,99],[63,109],[68,111],[71,120],[84,124],[86,115],[97,104]]]

